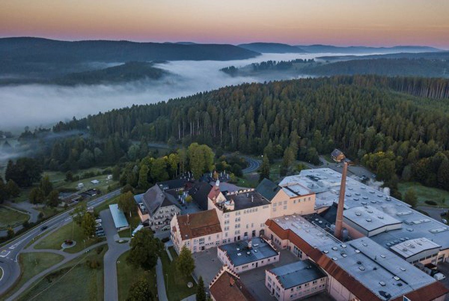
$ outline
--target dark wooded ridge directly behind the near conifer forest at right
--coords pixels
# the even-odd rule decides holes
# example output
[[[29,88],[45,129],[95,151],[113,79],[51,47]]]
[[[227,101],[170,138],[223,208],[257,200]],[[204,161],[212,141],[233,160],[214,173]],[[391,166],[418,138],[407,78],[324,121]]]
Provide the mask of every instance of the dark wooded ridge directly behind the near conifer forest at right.
[[[303,72],[326,76],[377,74],[384,76],[449,77],[449,61],[424,58],[353,59],[308,66],[303,69]]]

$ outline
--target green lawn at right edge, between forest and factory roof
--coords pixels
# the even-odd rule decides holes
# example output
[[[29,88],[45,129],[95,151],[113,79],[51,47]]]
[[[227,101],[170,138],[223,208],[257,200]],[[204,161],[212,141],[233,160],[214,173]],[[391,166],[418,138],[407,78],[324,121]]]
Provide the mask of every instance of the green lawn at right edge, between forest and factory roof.
[[[449,191],[434,187],[423,186],[417,182],[404,182],[398,184],[398,189],[404,196],[409,189],[414,189],[418,197],[418,205],[430,206],[425,201],[437,202],[440,207],[449,207]]]

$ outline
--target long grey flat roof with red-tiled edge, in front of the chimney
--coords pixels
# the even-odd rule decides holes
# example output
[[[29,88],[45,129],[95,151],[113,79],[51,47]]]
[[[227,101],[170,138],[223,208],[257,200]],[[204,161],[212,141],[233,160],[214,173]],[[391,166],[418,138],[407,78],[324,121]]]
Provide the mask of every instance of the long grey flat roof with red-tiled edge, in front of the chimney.
[[[389,295],[391,299],[402,296],[436,281],[370,238],[342,243],[317,225],[296,215],[272,221],[319,250],[329,261],[381,299],[388,300],[390,298],[385,296]],[[395,277],[399,277],[399,280]]]

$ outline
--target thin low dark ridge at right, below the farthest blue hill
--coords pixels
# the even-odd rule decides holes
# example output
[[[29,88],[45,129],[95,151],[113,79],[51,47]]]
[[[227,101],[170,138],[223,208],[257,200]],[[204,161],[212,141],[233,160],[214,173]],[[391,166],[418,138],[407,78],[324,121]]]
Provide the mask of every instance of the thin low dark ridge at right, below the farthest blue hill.
[[[425,59],[449,59],[449,51],[435,52],[419,52],[419,53],[388,53],[388,54],[372,54],[372,55],[336,55],[336,56],[318,56],[317,59],[325,61],[341,61],[354,59],[373,59],[373,58],[425,58]]]

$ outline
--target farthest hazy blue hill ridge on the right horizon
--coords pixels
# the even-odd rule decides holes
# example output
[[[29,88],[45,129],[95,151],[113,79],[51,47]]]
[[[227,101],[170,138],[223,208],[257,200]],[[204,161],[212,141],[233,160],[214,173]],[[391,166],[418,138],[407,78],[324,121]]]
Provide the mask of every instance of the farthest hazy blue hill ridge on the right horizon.
[[[430,52],[441,51],[441,49],[429,46],[393,46],[393,47],[368,47],[368,46],[333,46],[333,45],[296,45],[311,53],[391,53],[391,52]]]

